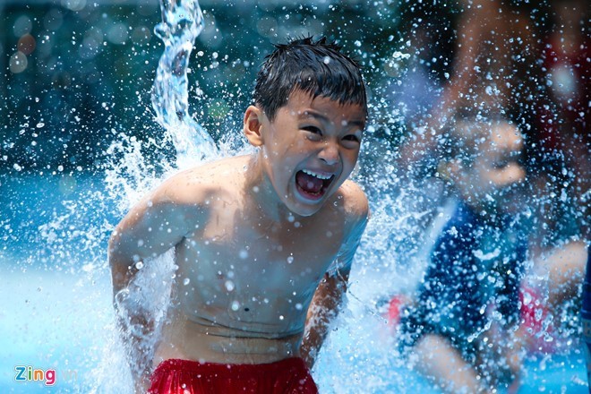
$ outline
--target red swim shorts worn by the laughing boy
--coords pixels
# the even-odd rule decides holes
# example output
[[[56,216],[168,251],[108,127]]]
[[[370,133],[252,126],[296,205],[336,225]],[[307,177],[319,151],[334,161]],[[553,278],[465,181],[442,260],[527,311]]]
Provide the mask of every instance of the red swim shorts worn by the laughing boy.
[[[317,394],[301,358],[271,364],[213,364],[170,359],[152,373],[150,394]]]

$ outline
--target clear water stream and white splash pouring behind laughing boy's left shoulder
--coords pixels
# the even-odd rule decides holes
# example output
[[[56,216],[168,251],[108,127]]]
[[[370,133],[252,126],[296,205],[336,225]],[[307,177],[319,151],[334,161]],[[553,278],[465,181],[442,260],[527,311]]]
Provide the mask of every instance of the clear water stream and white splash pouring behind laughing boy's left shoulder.
[[[165,49],[158,62],[151,103],[156,121],[166,132],[163,140],[172,141],[175,146],[176,166],[165,159],[158,164],[158,171],[145,158],[143,151],[161,151],[162,144],[152,139],[140,141],[120,133],[119,140],[107,150],[109,164],[106,176],[107,193],[120,196],[117,205],[122,213],[161,181],[160,172],[167,176],[179,168],[200,164],[219,154],[210,134],[189,114],[188,64],[193,42],[203,29],[199,3],[193,0],[160,0],[160,7],[162,22],[158,23],[155,32],[164,41]],[[124,332],[116,330],[116,324],[113,323],[113,338],[110,338],[106,354],[102,358],[105,361],[94,372],[99,381],[95,391],[119,393],[133,390],[132,375],[126,360],[151,359],[158,330],[166,318],[174,270],[172,251],[154,259],[146,259],[130,287],[115,296],[119,307],[114,319],[123,322]],[[149,321],[153,330],[144,332],[134,323],[133,317],[126,313],[129,308],[144,311],[142,316]],[[132,337],[141,341],[143,356],[134,354],[134,349],[122,343],[123,338]],[[109,376],[114,375],[120,379],[109,379]]]

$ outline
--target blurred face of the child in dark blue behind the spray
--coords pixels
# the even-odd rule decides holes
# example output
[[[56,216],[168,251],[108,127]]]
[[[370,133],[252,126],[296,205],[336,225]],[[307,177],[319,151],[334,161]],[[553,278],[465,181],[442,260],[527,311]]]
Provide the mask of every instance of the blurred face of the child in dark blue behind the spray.
[[[517,186],[526,178],[519,163],[522,148],[523,135],[518,128],[507,123],[494,126],[472,165],[460,171],[458,186],[462,194],[471,196],[481,207],[515,210]]]

